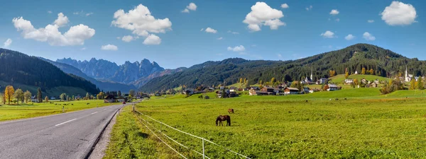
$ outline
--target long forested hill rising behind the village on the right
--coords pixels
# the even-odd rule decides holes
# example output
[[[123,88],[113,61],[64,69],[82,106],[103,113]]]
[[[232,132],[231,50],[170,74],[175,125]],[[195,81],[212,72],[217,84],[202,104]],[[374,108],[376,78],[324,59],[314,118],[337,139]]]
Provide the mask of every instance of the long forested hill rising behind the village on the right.
[[[250,84],[258,81],[299,81],[305,76],[310,76],[311,70],[314,80],[328,78],[329,71],[337,74],[344,73],[347,68],[349,73],[362,68],[373,69],[378,76],[398,76],[408,66],[409,73],[415,76],[426,74],[426,62],[418,59],[408,59],[400,54],[374,45],[356,44],[332,52],[317,54],[312,57],[293,61],[249,61],[245,59],[225,59],[224,61],[207,61],[203,64],[174,73],[171,75],[154,78],[141,90],[153,92],[167,90],[181,85],[194,87],[198,85],[212,86],[226,83],[236,83],[239,78],[246,78]]]

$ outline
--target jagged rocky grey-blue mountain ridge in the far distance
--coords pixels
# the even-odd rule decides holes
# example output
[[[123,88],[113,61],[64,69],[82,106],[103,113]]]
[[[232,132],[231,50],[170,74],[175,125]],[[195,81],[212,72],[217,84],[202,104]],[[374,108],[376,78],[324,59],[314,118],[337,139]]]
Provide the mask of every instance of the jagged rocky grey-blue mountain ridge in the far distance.
[[[141,62],[135,61],[131,63],[126,61],[122,65],[104,59],[92,58],[89,61],[77,61],[75,59],[58,59],[57,62],[69,64],[80,69],[87,76],[101,81],[114,81],[116,83],[129,84],[140,78],[150,76],[152,73],[164,71],[155,61],[151,63],[148,59]]]

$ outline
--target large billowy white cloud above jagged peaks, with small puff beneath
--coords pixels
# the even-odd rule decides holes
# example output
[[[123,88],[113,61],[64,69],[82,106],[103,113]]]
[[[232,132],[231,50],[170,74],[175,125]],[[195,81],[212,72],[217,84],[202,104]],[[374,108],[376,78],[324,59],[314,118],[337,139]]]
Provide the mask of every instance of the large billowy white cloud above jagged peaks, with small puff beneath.
[[[168,18],[155,19],[148,7],[142,4],[139,4],[133,10],[129,10],[128,13],[125,13],[123,9],[116,11],[114,19],[111,22],[112,25],[131,30],[135,35],[146,37],[146,40],[143,41],[143,44],[146,45],[159,45],[161,43],[160,37],[152,33],[165,33],[172,30],[172,22]]]

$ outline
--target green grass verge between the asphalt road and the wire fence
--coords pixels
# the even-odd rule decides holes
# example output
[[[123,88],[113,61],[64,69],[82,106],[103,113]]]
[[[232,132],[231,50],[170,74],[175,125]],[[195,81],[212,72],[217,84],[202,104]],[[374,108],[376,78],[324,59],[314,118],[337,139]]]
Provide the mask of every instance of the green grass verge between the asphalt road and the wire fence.
[[[117,116],[104,158],[178,158],[178,155],[160,143],[135,118],[131,106],[126,106]]]

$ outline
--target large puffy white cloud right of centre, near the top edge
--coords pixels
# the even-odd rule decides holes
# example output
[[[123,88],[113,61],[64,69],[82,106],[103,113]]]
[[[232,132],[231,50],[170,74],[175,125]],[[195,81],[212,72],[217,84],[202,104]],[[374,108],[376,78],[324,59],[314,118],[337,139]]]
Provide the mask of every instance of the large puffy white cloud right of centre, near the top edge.
[[[278,29],[280,25],[285,25],[281,22],[283,11],[278,11],[265,2],[256,2],[251,6],[251,12],[246,15],[243,23],[248,24],[249,30],[256,32],[261,30],[261,25],[268,25],[272,30]]]

